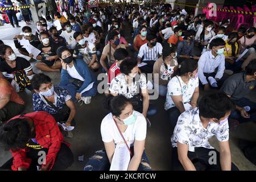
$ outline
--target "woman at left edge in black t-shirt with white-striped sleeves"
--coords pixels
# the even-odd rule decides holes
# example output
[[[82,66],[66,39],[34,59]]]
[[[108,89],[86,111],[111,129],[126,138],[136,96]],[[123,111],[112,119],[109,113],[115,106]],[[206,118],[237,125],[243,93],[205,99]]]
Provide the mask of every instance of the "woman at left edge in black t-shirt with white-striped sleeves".
[[[10,46],[2,45],[0,55],[4,61],[0,63],[0,71],[11,80],[12,85],[17,85],[16,90],[21,91],[24,88],[32,89],[30,80],[34,74],[31,64],[23,57],[17,57]],[[22,77],[23,79],[20,79]]]

